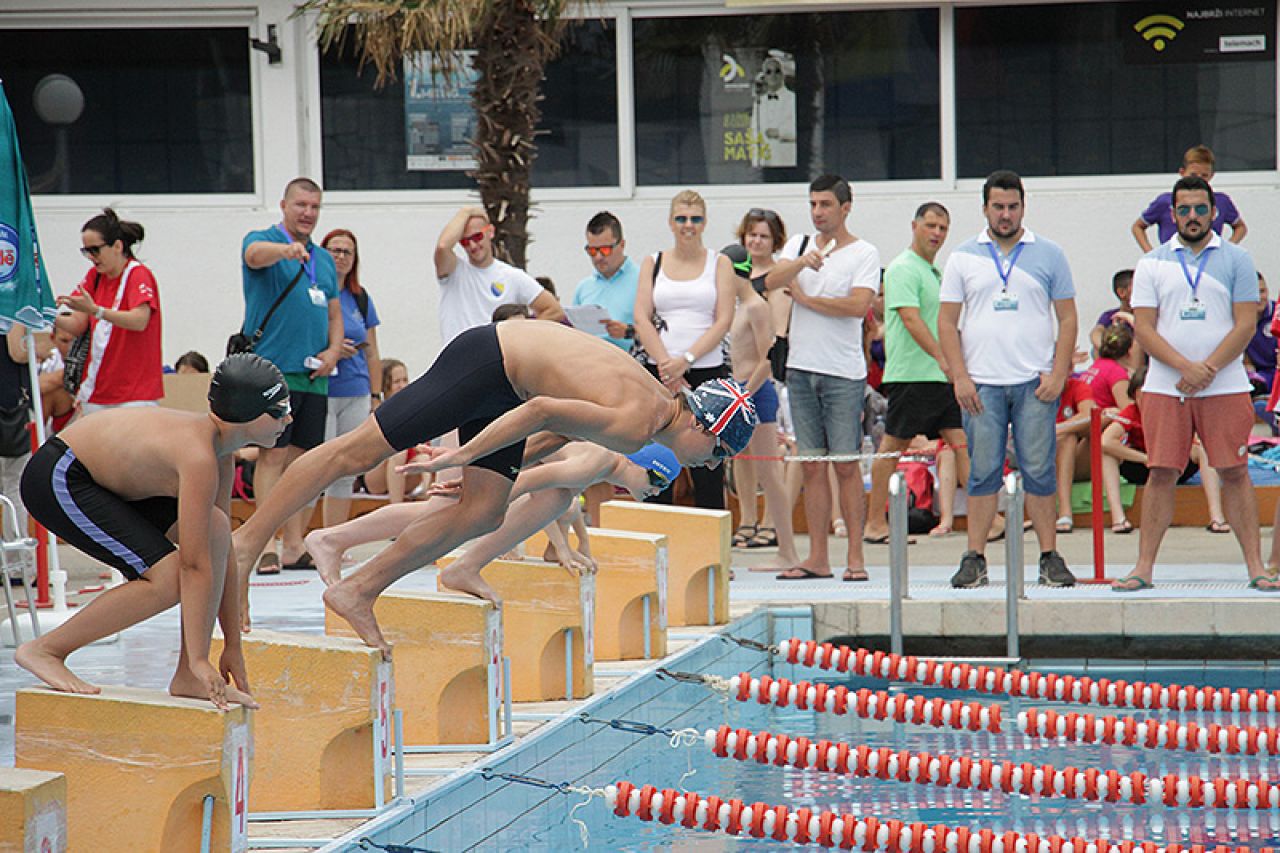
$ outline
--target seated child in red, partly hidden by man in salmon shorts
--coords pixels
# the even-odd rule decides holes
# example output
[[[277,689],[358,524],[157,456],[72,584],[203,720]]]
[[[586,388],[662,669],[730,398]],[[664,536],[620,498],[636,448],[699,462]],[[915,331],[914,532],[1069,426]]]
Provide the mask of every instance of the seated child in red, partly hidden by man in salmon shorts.
[[[1120,476],[1124,475],[1125,480],[1133,483],[1134,485],[1146,485],[1149,469],[1147,467],[1147,437],[1142,429],[1142,410],[1139,407],[1142,402],[1142,386],[1147,379],[1146,369],[1138,370],[1129,379],[1129,396],[1133,402],[1121,409],[1107,424],[1106,429],[1102,430],[1102,482],[1107,488],[1107,494],[1114,492],[1120,493]],[[1204,500],[1208,502],[1210,510],[1210,533],[1230,533],[1231,529],[1222,520],[1222,489],[1219,482],[1217,471],[1212,466],[1204,464],[1204,451],[1197,442],[1192,446],[1190,459],[1187,461],[1187,466],[1183,469],[1181,475],[1178,478],[1179,485],[1192,479],[1196,471],[1201,473],[1201,484],[1204,488]],[[1112,517],[1115,517],[1115,507],[1119,506],[1119,501],[1112,501]],[[1133,530],[1133,525],[1129,524],[1129,519],[1124,517],[1124,507],[1120,507],[1120,517],[1124,519],[1125,530],[1117,530],[1116,525],[1112,524],[1111,529],[1116,533],[1129,533]],[[1117,587],[1112,584],[1112,589],[1119,589],[1121,592],[1133,592],[1135,589],[1142,589],[1146,584],[1143,579],[1130,575],[1123,581],[1116,581],[1116,584],[1124,584]]]

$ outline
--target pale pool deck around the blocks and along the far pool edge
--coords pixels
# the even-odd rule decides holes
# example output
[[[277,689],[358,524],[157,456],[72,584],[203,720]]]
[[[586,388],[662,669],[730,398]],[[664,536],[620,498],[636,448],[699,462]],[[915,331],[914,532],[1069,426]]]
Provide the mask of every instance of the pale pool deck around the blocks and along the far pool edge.
[[[1263,530],[1265,548],[1270,546],[1270,529]],[[955,590],[947,579],[965,548],[964,534],[915,539],[908,549],[910,599],[904,610],[904,624],[911,638],[910,651],[922,654],[1001,653],[1005,642],[1004,543],[988,546],[989,587]],[[845,540],[832,539],[831,544],[833,556],[842,560]],[[378,547],[366,546],[355,556],[367,557]],[[1138,534],[1121,537],[1107,533],[1106,547],[1107,575],[1123,576],[1137,555]],[[801,537],[800,552],[806,549],[808,542]],[[1092,565],[1092,539],[1087,532],[1061,537],[1059,549],[1078,576],[1092,574],[1085,569]],[[1164,648],[1167,653],[1169,639],[1179,638],[1172,652],[1181,658],[1215,657],[1233,648],[1240,652],[1240,657],[1280,657],[1271,651],[1276,643],[1274,624],[1275,615],[1280,612],[1276,610],[1280,593],[1248,589],[1243,565],[1238,560],[1239,548],[1231,535],[1210,534],[1201,529],[1170,530],[1156,570],[1156,588],[1129,594],[1114,593],[1101,584],[1082,584],[1071,589],[1039,588],[1034,584],[1038,548],[1030,534],[1025,537],[1024,551],[1033,566],[1033,571],[1028,573],[1032,583],[1027,585],[1027,598],[1019,608],[1023,653],[1027,656],[1147,656],[1151,648]],[[772,573],[750,571],[776,561],[776,549],[735,551],[731,616],[737,619],[763,605],[813,606],[817,637],[863,638],[869,644],[882,642],[888,633],[888,548],[868,544],[864,546],[864,555],[872,575],[868,583],[835,579],[780,581]],[[72,576],[70,589],[97,583],[96,569],[84,557],[64,547],[61,558]],[[415,573],[399,583],[403,588],[431,589],[434,584],[431,570]],[[252,593],[255,621],[276,630],[323,633],[321,590],[312,573],[284,573],[256,581]],[[83,601],[88,596],[72,597],[73,601],[77,598]],[[673,630],[671,652],[686,648],[709,630]],[[178,619],[177,610],[173,610],[124,631],[118,643],[77,652],[72,666],[91,681],[163,689],[177,660],[177,638]],[[1064,647],[1071,653],[1051,653]],[[0,666],[0,765],[13,763],[14,692],[35,683],[13,665],[12,654],[12,648],[0,649],[0,660],[4,660],[4,666]],[[620,679],[652,665],[653,661],[598,663],[596,692],[608,690]],[[516,711],[521,716],[558,715],[580,704],[521,703]],[[517,736],[524,736],[540,725],[536,720],[517,720],[515,730]],[[426,770],[438,775],[410,776],[406,779],[406,794],[420,795],[448,772],[484,760],[484,753],[407,756],[407,770]],[[282,839],[334,839],[358,825],[358,820],[253,822],[250,838],[251,843],[259,841],[257,845],[264,847]],[[293,849],[317,848],[319,844]]]

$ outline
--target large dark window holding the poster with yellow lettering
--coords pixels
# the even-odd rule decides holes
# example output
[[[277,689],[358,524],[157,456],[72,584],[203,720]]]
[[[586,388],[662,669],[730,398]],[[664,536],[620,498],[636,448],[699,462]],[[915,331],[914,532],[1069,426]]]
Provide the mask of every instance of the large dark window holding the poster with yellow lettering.
[[[941,174],[936,9],[634,29],[641,184]]]

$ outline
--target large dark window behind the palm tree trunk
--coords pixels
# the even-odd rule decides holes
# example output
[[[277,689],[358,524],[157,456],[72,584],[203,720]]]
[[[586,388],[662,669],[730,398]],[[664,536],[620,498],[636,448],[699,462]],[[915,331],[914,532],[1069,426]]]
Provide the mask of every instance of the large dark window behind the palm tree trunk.
[[[374,87],[351,53],[320,59],[325,190],[468,188],[470,83],[430,73]],[[589,20],[570,27],[547,68],[535,187],[618,184],[617,38]]]

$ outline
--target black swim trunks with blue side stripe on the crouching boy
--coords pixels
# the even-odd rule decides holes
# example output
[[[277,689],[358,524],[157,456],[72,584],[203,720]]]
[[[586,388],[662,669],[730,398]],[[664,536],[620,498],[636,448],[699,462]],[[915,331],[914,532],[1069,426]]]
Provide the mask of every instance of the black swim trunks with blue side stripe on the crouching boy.
[[[125,501],[93,480],[74,451],[50,438],[22,473],[22,502],[45,528],[129,580],[178,549],[178,498]]]

